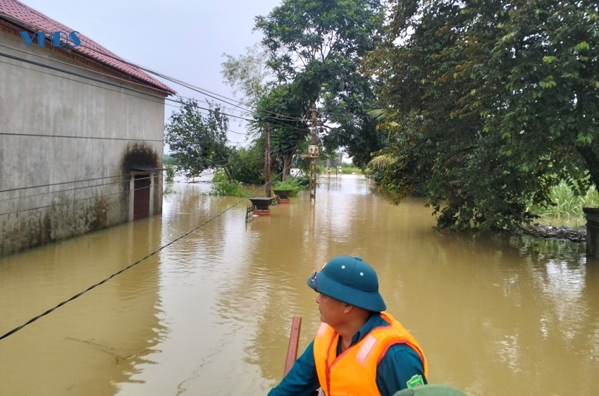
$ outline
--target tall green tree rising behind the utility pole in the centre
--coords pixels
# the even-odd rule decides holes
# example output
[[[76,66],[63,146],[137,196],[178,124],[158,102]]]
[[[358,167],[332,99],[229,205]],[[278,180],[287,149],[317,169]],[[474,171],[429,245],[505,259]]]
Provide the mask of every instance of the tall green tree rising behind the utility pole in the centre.
[[[284,139],[293,142],[291,151],[304,142],[306,128],[316,126],[310,125],[309,112],[316,106],[319,135],[330,151],[345,146],[365,165],[370,151],[383,147],[373,139],[380,134],[366,113],[373,104],[373,80],[359,70],[362,58],[378,43],[383,21],[379,0],[285,0],[268,16],[256,18],[277,89],[302,101],[292,106],[262,102],[267,112],[288,111],[280,114],[299,124],[290,129],[279,124],[280,118],[271,120],[273,128],[287,127]],[[279,96],[273,92],[271,99]]]

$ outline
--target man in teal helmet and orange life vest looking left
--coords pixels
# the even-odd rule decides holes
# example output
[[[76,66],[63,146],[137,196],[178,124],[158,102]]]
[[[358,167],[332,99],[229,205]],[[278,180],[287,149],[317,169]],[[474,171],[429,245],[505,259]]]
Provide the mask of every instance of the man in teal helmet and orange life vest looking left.
[[[337,256],[308,285],[319,293],[321,326],[287,376],[268,396],[382,395],[426,384],[418,342],[386,309],[374,269]]]

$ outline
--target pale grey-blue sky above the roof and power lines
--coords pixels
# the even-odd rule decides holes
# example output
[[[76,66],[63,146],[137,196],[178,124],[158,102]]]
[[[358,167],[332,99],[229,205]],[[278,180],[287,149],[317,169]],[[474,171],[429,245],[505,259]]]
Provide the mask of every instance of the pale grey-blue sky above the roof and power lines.
[[[20,1],[89,37],[125,61],[223,97],[240,99],[223,82],[223,53],[239,56],[259,42],[261,33],[252,32],[254,17],[266,16],[283,0]],[[206,99],[191,89],[157,79],[183,97]],[[168,100],[165,107],[166,123],[178,108]],[[245,124],[231,118],[229,128],[233,131],[228,135],[229,140],[243,144],[245,135],[240,134],[245,133]]]

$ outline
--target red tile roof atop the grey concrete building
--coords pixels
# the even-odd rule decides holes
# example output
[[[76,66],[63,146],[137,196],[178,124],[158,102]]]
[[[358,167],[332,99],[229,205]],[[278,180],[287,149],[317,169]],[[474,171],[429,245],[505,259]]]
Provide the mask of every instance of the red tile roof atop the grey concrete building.
[[[48,18],[44,14],[39,13],[33,8],[25,6],[25,4],[16,0],[0,0],[0,18],[6,18],[12,23],[16,23],[16,25],[20,25],[31,32],[41,30],[48,34],[49,32],[62,31],[68,34],[68,32],[73,31],[70,27],[66,27],[63,24],[56,22],[56,20]],[[71,51],[85,54],[95,61],[131,75],[132,77],[142,80],[143,82],[170,94],[176,93],[171,87],[164,85],[162,82],[147,75],[147,73],[144,73],[139,68],[123,61],[111,51],[101,47],[101,45],[93,42],[84,35],[79,33],[77,37],[80,38],[81,44],[78,47],[69,47]]]

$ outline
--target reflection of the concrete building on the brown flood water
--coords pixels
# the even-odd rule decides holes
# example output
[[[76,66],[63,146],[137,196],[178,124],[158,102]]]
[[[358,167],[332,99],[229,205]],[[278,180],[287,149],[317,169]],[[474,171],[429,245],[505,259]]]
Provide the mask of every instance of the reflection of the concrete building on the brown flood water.
[[[153,218],[1,259],[0,333],[156,249],[160,228]],[[114,394],[159,342],[158,267],[148,259],[0,340],[0,394]]]

